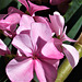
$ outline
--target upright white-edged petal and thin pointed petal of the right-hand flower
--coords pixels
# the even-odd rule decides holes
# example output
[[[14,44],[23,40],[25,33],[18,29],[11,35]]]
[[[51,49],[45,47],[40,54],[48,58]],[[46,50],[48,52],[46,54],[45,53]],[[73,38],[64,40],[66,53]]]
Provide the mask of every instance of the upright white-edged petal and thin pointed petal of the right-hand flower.
[[[56,33],[56,36],[59,37],[62,42],[65,40],[69,40],[69,42],[77,42],[77,40],[73,40],[71,38],[69,38],[67,35],[66,35],[66,30],[67,30],[67,26],[63,31],[63,27],[65,27],[65,19],[62,15],[60,15],[59,12],[54,12],[54,15],[49,15],[50,17],[50,21],[51,21],[51,30],[52,32]]]

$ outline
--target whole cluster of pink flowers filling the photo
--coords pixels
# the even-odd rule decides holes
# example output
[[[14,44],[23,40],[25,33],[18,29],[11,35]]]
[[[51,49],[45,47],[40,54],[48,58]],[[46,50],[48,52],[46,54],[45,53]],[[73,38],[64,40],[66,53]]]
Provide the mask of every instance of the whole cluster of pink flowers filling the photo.
[[[9,8],[8,14],[0,15],[0,30],[12,38],[11,44],[17,49],[15,58],[5,67],[7,75],[12,82],[31,82],[35,72],[39,82],[55,82],[59,61],[65,55],[72,68],[78,65],[77,49],[62,44],[65,40],[75,40],[66,35],[67,26],[63,31],[65,19],[59,12],[49,15],[49,22],[47,17],[35,15],[35,12],[49,8],[28,0],[19,1],[30,15],[13,7]],[[12,55],[1,39],[0,55]]]

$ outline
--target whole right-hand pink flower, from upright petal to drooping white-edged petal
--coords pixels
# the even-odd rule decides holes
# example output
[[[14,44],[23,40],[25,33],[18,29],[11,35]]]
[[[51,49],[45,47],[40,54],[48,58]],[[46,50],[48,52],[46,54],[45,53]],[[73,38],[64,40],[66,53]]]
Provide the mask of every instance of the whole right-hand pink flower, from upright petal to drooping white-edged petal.
[[[50,27],[52,32],[56,33],[57,38],[55,38],[55,46],[62,52],[66,54],[70,65],[72,67],[75,67],[79,62],[79,52],[77,49],[70,45],[62,44],[62,42],[68,40],[68,42],[77,42],[71,38],[69,38],[66,35],[66,30],[63,31],[65,26],[65,19],[61,16],[58,12],[55,12],[54,15],[49,15],[50,17]],[[62,48],[61,48],[62,46]]]

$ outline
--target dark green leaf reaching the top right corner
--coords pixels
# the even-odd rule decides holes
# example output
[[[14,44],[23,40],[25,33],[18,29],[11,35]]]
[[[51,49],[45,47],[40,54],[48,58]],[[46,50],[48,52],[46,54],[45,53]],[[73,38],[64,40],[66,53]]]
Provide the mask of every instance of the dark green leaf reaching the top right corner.
[[[77,12],[77,10],[81,7],[82,0],[72,0],[67,13],[63,15],[66,19],[66,23],[71,19],[71,16]]]

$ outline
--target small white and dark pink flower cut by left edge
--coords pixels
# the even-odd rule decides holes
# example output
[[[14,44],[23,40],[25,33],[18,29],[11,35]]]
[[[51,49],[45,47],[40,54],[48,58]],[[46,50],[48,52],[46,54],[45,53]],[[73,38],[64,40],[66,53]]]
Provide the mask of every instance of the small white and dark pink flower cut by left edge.
[[[4,45],[4,43],[0,39],[0,55],[4,56],[4,55],[10,55],[10,50],[9,48]]]

